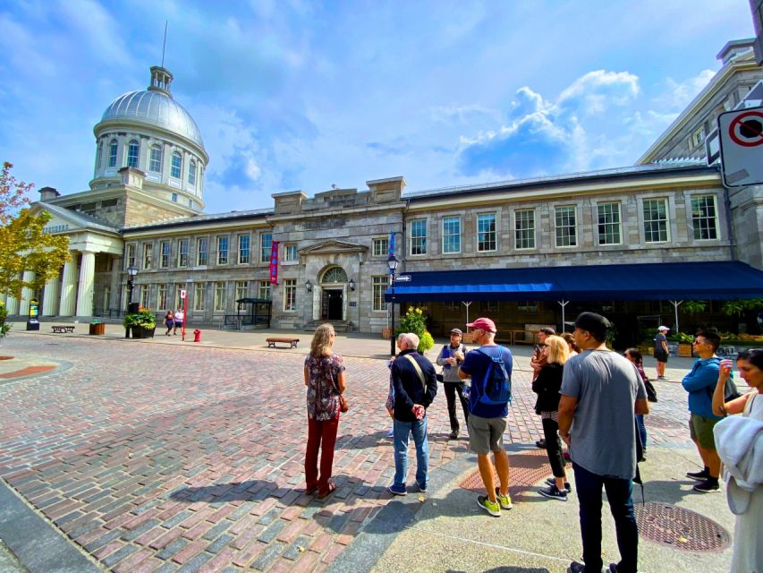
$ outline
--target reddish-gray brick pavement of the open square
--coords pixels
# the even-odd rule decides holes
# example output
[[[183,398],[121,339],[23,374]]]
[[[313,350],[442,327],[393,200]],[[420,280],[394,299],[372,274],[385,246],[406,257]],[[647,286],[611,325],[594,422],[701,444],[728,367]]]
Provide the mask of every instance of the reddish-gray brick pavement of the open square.
[[[106,569],[321,571],[390,499],[383,360],[346,360],[352,411],[321,502],[303,493],[303,352],[41,335],[4,352],[73,363],[0,387],[0,475]],[[506,440],[537,440],[529,372],[514,389]],[[685,441],[680,385],[658,391],[650,439]],[[429,415],[434,470],[467,442],[446,439],[443,397]]]

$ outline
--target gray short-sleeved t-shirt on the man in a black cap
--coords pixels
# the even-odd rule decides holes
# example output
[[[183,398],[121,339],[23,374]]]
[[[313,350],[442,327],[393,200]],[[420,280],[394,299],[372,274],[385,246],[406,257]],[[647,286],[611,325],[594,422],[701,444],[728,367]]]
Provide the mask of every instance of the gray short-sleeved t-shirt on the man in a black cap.
[[[609,350],[586,350],[564,364],[560,393],[578,399],[570,457],[596,475],[636,474],[636,398],[647,389],[636,367]]]

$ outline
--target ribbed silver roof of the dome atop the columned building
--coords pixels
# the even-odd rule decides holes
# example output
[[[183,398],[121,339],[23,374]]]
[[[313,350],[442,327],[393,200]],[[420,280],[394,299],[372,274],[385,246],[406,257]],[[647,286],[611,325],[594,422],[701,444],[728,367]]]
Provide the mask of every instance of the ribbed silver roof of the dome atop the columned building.
[[[161,90],[131,91],[114,99],[106,107],[101,122],[114,119],[161,127],[182,135],[204,150],[201,131],[191,114]]]

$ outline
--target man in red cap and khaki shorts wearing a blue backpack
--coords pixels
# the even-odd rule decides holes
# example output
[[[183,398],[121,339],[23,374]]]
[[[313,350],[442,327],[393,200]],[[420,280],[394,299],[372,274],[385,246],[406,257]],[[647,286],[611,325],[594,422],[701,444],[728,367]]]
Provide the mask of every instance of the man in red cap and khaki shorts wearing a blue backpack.
[[[503,403],[489,399],[487,384],[492,383],[496,368],[503,366],[508,375],[509,389],[513,356],[508,348],[496,345],[496,323],[479,318],[466,326],[471,328],[471,339],[479,348],[472,350],[464,359],[458,375],[462,380],[471,378],[469,393],[469,447],[477,454],[477,464],[487,495],[477,497],[477,505],[493,517],[500,517],[501,508],[512,509],[509,495],[509,457],[504,449],[506,416],[509,415],[509,397]],[[500,372],[500,370],[499,370]],[[493,478],[494,464],[500,485]]]

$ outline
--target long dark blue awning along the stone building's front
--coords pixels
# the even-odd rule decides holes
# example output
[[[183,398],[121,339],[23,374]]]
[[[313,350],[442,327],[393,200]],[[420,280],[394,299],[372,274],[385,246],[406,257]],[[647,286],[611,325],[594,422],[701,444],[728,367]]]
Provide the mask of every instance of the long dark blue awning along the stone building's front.
[[[763,271],[736,261],[440,270],[402,276],[394,286],[396,303],[763,298]],[[391,294],[387,288],[387,301]]]

